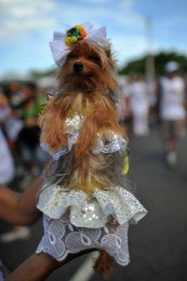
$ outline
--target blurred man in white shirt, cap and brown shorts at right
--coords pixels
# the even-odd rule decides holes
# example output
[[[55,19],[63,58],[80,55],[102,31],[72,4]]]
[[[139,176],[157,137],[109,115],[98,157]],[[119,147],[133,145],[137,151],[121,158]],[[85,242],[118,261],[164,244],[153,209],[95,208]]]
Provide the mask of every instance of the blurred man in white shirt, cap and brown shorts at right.
[[[182,77],[179,77],[178,63],[174,61],[167,63],[165,73],[165,77],[160,79],[160,119],[165,150],[167,149],[167,164],[173,168],[176,166],[177,141],[184,132],[185,84]]]

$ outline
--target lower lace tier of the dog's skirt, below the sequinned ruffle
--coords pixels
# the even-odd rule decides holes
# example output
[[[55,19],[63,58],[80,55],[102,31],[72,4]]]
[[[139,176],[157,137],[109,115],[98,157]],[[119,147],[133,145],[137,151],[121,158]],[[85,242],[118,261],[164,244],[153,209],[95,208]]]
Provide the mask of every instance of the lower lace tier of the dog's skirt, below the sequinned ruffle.
[[[44,235],[36,249],[63,261],[67,255],[86,249],[104,249],[118,264],[126,266],[129,259],[128,223],[120,225],[112,217],[102,228],[78,228],[69,221],[69,210],[59,219],[43,215]]]

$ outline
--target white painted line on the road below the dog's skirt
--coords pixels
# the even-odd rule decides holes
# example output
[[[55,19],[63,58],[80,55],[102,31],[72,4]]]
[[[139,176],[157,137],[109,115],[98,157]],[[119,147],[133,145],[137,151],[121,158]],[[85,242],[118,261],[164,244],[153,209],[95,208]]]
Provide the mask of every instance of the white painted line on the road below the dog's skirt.
[[[82,265],[78,268],[76,273],[69,281],[88,281],[95,274],[95,270],[93,270],[94,260],[99,256],[99,251],[94,251],[89,254],[88,258],[82,263]]]

